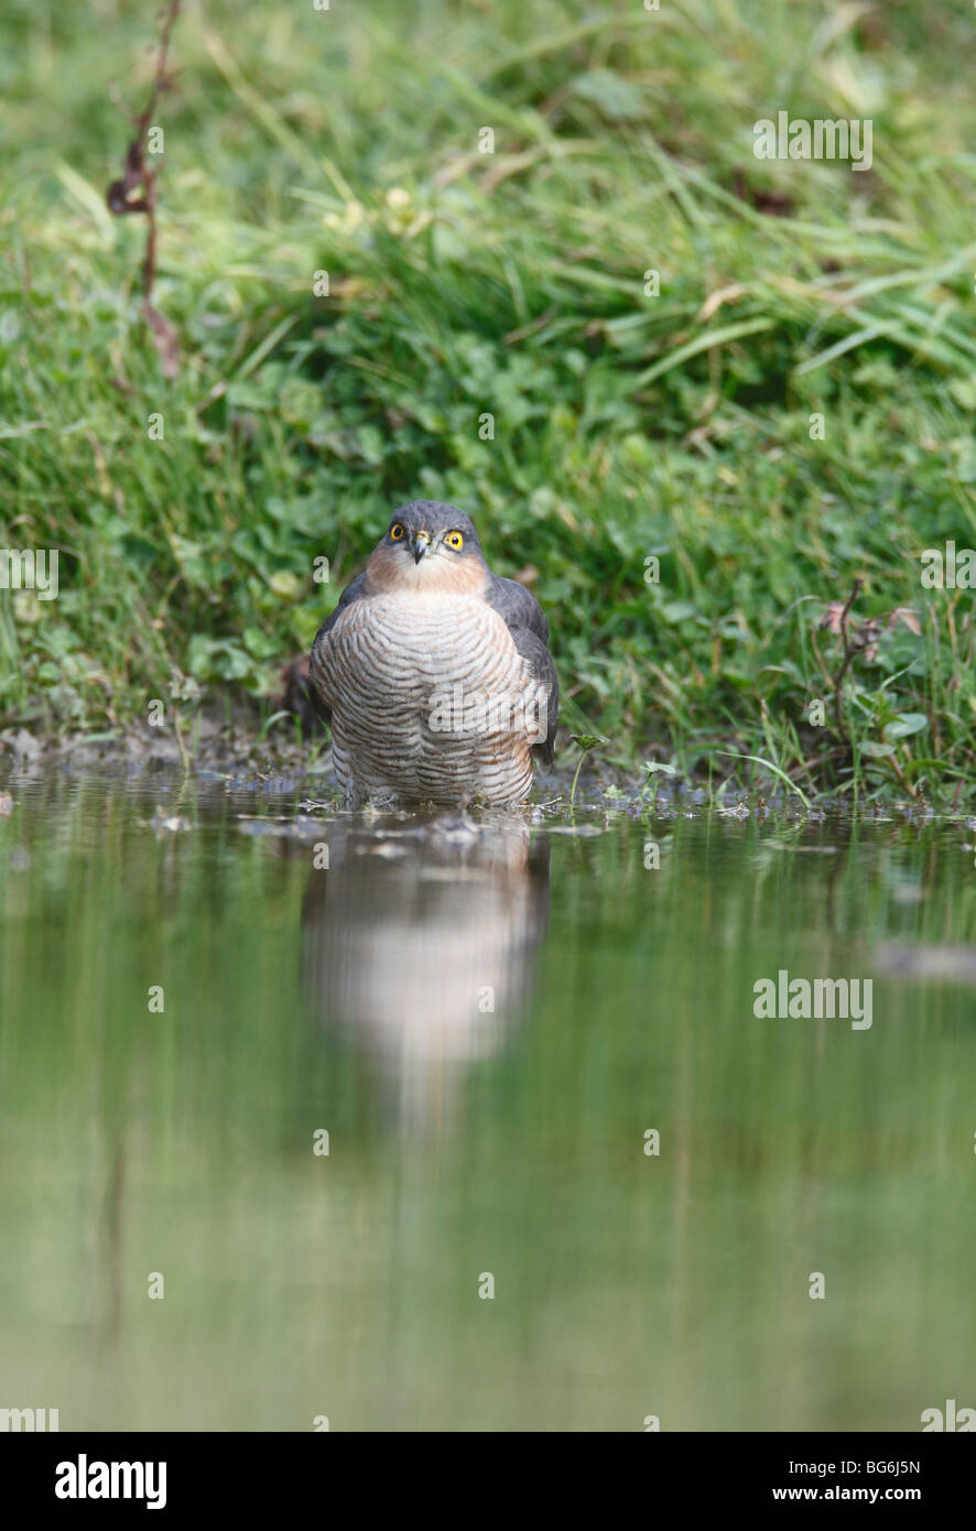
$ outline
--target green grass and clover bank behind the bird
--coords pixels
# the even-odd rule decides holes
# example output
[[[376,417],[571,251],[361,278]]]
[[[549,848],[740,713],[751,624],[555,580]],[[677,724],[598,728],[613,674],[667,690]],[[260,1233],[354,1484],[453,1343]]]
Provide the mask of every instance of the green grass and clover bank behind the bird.
[[[636,781],[732,750],[807,793],[968,801],[971,592],[922,589],[919,553],[976,545],[971,6],[187,5],[156,113],[172,381],[144,224],[104,210],[153,24],[0,20],[0,547],[61,554],[57,602],[0,591],[0,723],[198,687],[270,715],[424,496],[538,571],[565,721]],[[780,109],[870,118],[872,171],[757,161]],[[855,655],[838,715],[818,623],[855,579],[852,631],[921,631]]]

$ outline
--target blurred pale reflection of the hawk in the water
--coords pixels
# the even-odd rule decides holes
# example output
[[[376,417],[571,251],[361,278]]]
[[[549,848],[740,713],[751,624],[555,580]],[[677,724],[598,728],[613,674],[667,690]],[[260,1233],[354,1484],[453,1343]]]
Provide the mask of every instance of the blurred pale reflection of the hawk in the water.
[[[466,1067],[501,1050],[549,923],[549,845],[518,813],[332,825],[302,909],[303,981],[374,1061],[408,1136],[450,1128]]]

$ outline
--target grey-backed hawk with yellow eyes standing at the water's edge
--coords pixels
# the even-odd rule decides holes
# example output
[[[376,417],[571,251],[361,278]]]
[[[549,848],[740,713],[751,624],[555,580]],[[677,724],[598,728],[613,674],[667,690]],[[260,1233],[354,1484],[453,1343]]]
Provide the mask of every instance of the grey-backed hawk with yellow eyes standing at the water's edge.
[[[493,574],[473,521],[415,499],[311,649],[346,807],[522,802],[552,766],[559,681],[530,589]]]

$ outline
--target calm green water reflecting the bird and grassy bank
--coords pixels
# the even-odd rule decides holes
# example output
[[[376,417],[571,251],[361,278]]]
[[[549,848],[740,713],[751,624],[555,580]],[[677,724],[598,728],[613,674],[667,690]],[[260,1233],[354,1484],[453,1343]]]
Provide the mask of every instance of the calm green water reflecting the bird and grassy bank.
[[[302,813],[308,781],[0,785],[0,1407],[918,1430],[976,1405],[964,821],[679,798],[472,828]],[[757,1018],[780,969],[870,978],[870,1027]]]

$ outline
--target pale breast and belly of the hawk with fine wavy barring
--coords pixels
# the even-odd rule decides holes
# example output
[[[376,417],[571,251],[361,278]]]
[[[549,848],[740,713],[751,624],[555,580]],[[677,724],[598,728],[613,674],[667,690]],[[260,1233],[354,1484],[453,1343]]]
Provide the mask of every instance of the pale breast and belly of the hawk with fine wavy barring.
[[[336,772],[352,796],[492,802],[532,784],[527,675],[504,620],[472,596],[368,596],[322,655]]]

